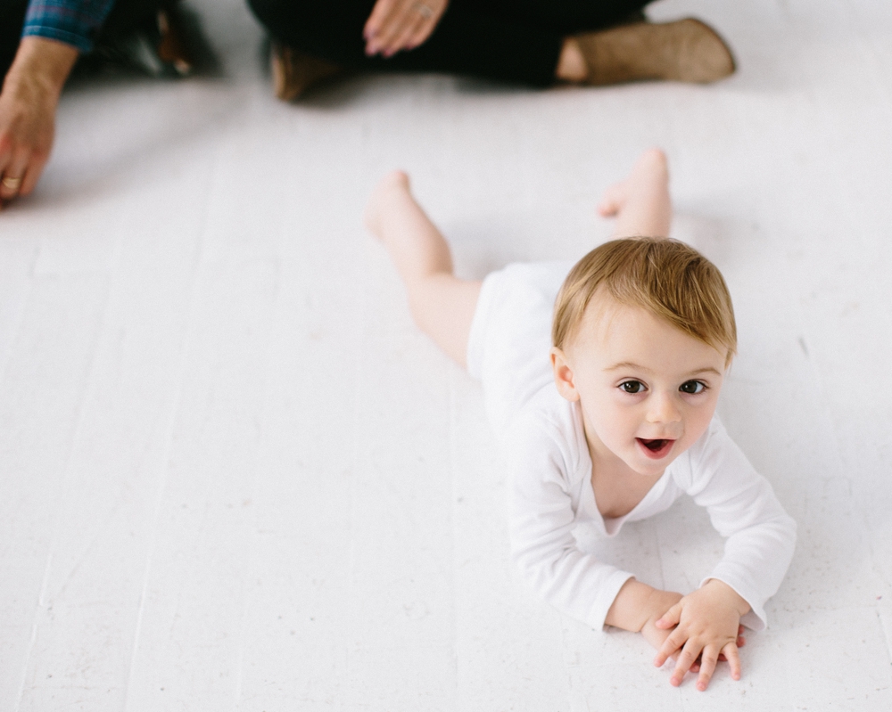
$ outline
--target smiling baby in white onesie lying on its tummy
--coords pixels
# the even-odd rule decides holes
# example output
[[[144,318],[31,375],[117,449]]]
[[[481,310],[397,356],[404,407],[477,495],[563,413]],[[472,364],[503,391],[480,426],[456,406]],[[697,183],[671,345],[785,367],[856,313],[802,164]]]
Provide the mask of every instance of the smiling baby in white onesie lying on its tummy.
[[[647,151],[599,212],[616,217],[622,239],[572,269],[511,265],[483,282],[453,274],[449,247],[404,173],[378,185],[365,219],[418,326],[483,383],[508,462],[512,554],[524,578],[597,629],[640,632],[657,667],[675,660],[673,685],[691,671],[706,690],[720,659],[739,679],[742,626],[764,628],[796,524],[715,415],[737,345],[731,296],[712,263],[665,238],[664,154]],[[615,536],[683,493],[727,539],[692,593],[644,584],[574,538],[586,522]]]

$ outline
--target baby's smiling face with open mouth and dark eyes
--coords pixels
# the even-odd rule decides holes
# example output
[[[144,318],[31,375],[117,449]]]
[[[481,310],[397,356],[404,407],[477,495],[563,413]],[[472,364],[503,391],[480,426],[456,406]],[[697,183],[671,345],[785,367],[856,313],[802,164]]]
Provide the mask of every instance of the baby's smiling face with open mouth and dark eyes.
[[[580,401],[596,463],[619,458],[654,476],[706,431],[725,356],[640,307],[602,297],[552,360],[561,395]]]

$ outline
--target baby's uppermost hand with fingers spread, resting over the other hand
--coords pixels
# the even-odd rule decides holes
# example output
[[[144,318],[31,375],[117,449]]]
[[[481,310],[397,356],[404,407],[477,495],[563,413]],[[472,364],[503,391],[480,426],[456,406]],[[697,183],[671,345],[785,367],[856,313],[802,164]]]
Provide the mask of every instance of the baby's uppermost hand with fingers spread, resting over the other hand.
[[[662,630],[673,626],[675,629],[657,651],[654,665],[661,667],[666,659],[678,655],[670,681],[677,687],[688,670],[697,671],[699,658],[697,689],[702,691],[706,690],[715,664],[723,654],[731,663],[731,677],[739,680],[740,617],[748,610],[749,604],[731,586],[710,579],[697,591],[682,598],[655,623]]]

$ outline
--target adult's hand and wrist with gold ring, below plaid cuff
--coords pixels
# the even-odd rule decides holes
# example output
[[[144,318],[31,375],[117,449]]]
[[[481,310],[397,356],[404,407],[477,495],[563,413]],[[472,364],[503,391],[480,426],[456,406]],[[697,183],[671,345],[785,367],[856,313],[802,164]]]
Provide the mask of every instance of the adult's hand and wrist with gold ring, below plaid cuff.
[[[0,93],[0,207],[34,190],[49,159],[55,110],[78,50],[24,37]]]

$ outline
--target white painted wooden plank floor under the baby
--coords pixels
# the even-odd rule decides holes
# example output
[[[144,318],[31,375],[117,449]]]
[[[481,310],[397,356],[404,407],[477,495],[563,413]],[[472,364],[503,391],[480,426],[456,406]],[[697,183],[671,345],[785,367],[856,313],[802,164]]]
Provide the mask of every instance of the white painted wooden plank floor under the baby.
[[[892,5],[654,5],[729,38],[717,86],[291,106],[241,0],[195,4],[226,77],[73,88],[0,215],[0,710],[892,709]],[[516,579],[480,390],[359,223],[404,167],[463,274],[578,257],[655,144],[736,301],[723,417],[800,531],[705,693]],[[687,591],[721,544],[680,503],[617,559]]]

